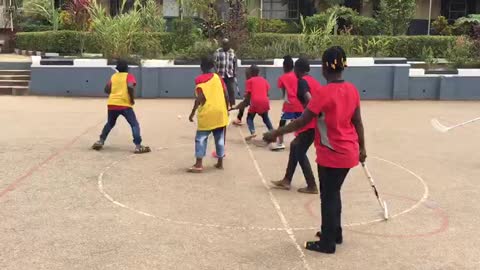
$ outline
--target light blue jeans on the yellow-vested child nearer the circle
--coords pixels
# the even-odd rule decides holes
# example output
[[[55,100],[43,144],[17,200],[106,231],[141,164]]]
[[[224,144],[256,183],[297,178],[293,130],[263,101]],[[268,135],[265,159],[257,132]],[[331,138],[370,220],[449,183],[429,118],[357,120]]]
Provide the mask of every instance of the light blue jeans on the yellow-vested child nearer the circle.
[[[214,130],[197,130],[195,136],[195,157],[203,158],[207,154],[208,136],[213,133],[215,139],[215,149],[217,157],[223,158],[225,156],[225,127]]]

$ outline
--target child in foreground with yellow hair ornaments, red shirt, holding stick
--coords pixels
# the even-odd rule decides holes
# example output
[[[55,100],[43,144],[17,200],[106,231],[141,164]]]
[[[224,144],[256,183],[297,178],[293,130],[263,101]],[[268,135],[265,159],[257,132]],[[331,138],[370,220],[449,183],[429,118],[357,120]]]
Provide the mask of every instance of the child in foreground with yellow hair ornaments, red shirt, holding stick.
[[[278,130],[264,134],[264,140],[273,142],[280,135],[293,132],[317,118],[315,148],[320,179],[322,226],[317,233],[320,241],[305,243],[305,248],[323,253],[335,253],[343,241],[341,227],[342,201],[340,189],[349,170],[364,162],[367,154],[360,96],[357,88],[342,79],[346,66],[345,51],[340,47],[326,50],[322,56],[322,73],[327,85],[296,121]]]

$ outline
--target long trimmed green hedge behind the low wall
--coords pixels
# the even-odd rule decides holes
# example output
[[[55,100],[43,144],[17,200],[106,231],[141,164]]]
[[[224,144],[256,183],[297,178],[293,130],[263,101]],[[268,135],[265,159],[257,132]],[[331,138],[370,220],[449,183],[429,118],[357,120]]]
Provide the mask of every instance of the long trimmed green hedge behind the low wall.
[[[145,57],[169,55],[181,58],[190,48],[183,44],[193,46],[195,39],[191,36],[179,36],[171,33],[138,33],[135,38],[133,53]],[[274,34],[259,33],[252,35],[248,42],[240,48],[239,54],[245,58],[271,58],[282,57],[283,54],[300,54],[298,50],[304,48],[303,35],[301,34]],[[407,57],[410,59],[421,58],[424,47],[432,48],[435,57],[445,57],[448,48],[452,46],[455,36],[331,36],[329,44],[324,46],[339,45],[345,48],[349,55],[368,56],[361,53],[361,47],[366,47],[369,41],[381,41],[382,56]],[[183,39],[179,40],[179,39]],[[145,40],[152,40],[146,45]],[[75,31],[47,31],[17,33],[16,47],[24,50],[58,52],[62,54],[78,54],[85,52],[100,52],[98,43],[92,33]],[[303,46],[302,46],[303,45]],[[197,47],[202,48],[201,45]],[[203,46],[209,47],[209,46]],[[307,46],[308,47],[308,46]],[[319,46],[321,48],[322,46]],[[202,50],[204,50],[202,48]],[[200,51],[202,51],[200,50]],[[320,50],[320,49],[318,49]],[[189,57],[194,57],[197,50],[190,51]],[[182,52],[182,53],[179,53]],[[321,56],[321,51],[315,52],[314,57]],[[179,57],[180,56],[180,57]]]

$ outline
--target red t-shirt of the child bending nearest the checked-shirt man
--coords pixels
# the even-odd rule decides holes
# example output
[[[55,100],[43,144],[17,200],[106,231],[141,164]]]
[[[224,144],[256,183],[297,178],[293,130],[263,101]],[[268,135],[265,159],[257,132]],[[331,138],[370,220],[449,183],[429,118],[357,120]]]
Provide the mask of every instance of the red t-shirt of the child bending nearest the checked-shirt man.
[[[250,108],[248,112],[266,113],[270,110],[270,100],[268,99],[268,91],[270,85],[268,81],[260,76],[255,76],[247,80],[246,94],[250,94]]]

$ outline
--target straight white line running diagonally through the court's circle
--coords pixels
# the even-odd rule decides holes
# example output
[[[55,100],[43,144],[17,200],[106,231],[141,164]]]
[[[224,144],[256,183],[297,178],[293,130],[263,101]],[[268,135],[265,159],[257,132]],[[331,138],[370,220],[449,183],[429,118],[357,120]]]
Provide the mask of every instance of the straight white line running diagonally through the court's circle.
[[[242,138],[244,138],[244,134],[242,132],[242,129],[238,129],[240,132],[240,135]],[[265,176],[263,176],[262,170],[260,169],[260,166],[258,165],[257,159],[255,158],[255,155],[253,155],[252,149],[248,145],[248,143],[242,139],[243,143],[245,144],[245,147],[247,148],[248,154],[250,155],[250,158],[252,159],[253,165],[255,166],[255,169],[257,170],[258,176],[262,180],[263,186],[267,189],[268,195],[270,196],[270,201],[272,201],[273,206],[275,207],[275,211],[277,212],[278,217],[282,221],[283,228],[287,232],[288,236],[290,237],[290,240],[292,240],[293,245],[295,248],[298,250],[300,253],[300,259],[303,262],[303,267],[307,270],[310,270],[310,265],[307,262],[307,259],[305,257],[305,253],[303,252],[303,249],[300,247],[300,245],[297,243],[297,238],[295,237],[295,234],[293,233],[292,227],[290,227],[290,224],[288,223],[287,219],[285,218],[285,215],[282,212],[282,209],[280,208],[280,204],[273,195],[272,190],[270,189],[270,186],[267,184],[267,180],[265,180]]]

